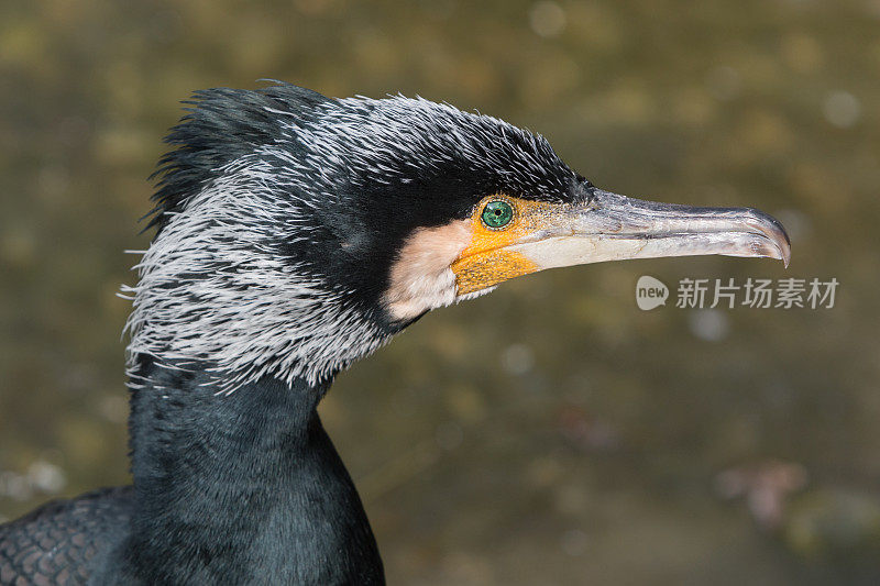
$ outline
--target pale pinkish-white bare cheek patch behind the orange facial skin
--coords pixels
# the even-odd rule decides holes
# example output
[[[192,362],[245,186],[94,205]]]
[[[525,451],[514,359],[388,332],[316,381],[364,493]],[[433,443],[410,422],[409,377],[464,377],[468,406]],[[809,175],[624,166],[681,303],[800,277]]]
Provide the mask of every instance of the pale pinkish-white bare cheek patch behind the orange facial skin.
[[[411,320],[457,300],[455,274],[449,267],[471,242],[471,224],[455,220],[416,230],[392,266],[384,302],[395,320]]]

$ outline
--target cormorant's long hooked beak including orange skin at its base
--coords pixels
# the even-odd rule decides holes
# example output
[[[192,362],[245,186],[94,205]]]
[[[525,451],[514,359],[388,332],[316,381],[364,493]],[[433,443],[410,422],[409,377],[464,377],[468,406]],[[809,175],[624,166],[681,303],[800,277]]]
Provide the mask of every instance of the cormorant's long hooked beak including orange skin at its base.
[[[536,270],[604,261],[722,254],[778,258],[788,266],[791,256],[782,224],[752,208],[658,203],[600,189],[583,203],[512,203],[518,225],[507,242],[496,236],[498,245],[485,245],[475,234],[453,264],[459,295]],[[493,264],[501,267],[495,275]]]

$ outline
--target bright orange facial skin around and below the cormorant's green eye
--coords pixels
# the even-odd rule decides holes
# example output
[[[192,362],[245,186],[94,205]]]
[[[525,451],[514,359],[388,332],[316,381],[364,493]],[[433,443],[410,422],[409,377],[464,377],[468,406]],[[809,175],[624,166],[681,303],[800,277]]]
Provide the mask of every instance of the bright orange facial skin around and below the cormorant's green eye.
[[[499,200],[513,207],[514,218],[506,226],[493,230],[483,223],[481,215],[486,203]],[[470,218],[471,242],[450,265],[455,275],[458,295],[486,289],[538,270],[535,263],[506,247],[528,240],[532,233],[547,226],[558,209],[558,204],[507,196],[492,196],[481,201]]]

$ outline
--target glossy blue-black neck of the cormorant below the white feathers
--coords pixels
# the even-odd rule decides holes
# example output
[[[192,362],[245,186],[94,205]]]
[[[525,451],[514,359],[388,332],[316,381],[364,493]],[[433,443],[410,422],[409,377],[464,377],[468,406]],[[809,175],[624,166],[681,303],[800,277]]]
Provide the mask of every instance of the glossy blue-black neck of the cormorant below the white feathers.
[[[354,485],[316,407],[324,388],[261,379],[221,395],[146,364],[133,391],[138,510],[122,548],[144,583],[381,583]]]

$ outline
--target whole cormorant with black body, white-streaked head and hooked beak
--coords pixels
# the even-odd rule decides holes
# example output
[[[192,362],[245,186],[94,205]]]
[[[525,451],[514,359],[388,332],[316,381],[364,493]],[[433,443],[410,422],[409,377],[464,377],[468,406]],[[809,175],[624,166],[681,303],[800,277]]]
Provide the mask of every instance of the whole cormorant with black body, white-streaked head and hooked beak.
[[[543,137],[449,104],[286,84],[186,103],[128,289],[133,486],[0,527],[2,584],[381,584],[316,411],[337,373],[536,270],[788,264],[766,213],[610,194]]]

